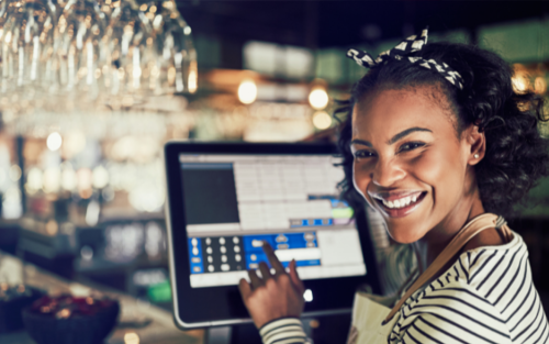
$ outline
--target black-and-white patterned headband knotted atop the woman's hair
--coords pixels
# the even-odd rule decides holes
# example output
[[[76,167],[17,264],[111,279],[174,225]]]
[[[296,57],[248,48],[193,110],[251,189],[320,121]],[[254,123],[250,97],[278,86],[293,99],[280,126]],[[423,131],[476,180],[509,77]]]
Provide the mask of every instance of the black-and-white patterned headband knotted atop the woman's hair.
[[[417,35],[407,37],[392,49],[379,54],[376,59],[367,52],[360,52],[357,49],[349,49],[347,52],[347,57],[354,58],[357,64],[365,68],[376,68],[390,59],[407,59],[412,64],[418,64],[424,68],[440,73],[445,79],[451,82],[451,85],[459,87],[459,89],[463,89],[463,78],[447,64],[439,64],[434,59],[424,59],[419,56],[408,56],[413,53],[419,52],[423,46],[427,44],[427,29],[423,30],[419,37],[417,37]]]

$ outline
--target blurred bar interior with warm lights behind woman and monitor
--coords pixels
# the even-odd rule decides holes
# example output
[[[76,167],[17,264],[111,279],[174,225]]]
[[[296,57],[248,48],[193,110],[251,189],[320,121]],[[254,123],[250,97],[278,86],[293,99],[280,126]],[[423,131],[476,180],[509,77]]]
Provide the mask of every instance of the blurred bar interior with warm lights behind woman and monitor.
[[[547,97],[547,1],[0,1],[0,249],[170,310],[163,145],[334,140],[346,51],[426,25]],[[549,292],[549,181],[511,220]]]

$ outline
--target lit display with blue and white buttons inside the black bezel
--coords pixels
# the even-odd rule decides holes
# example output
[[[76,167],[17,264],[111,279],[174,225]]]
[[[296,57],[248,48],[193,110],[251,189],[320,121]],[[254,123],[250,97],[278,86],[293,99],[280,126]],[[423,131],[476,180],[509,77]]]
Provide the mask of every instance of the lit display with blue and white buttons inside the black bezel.
[[[268,242],[302,279],[366,275],[333,155],[180,154],[192,288],[237,285]]]

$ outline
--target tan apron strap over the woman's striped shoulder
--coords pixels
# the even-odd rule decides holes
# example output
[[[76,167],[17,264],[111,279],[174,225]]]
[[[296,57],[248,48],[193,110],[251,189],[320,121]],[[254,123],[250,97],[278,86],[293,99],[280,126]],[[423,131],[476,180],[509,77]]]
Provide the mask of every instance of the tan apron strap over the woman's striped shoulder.
[[[406,293],[400,299],[399,302],[391,310],[389,315],[386,315],[382,325],[386,324],[393,317],[399,312],[401,307],[406,302],[406,300],[416,292],[417,289],[422,288],[426,282],[428,282],[433,276],[435,276],[446,264],[458,254],[458,252],[463,248],[463,246],[480,232],[493,229],[500,231],[506,243],[513,240],[513,233],[511,232],[507,223],[502,217],[497,217],[492,213],[484,213],[475,217],[469,223],[467,223],[452,241],[446,246],[446,248],[436,257],[433,264],[416,279],[416,281],[408,288]]]

